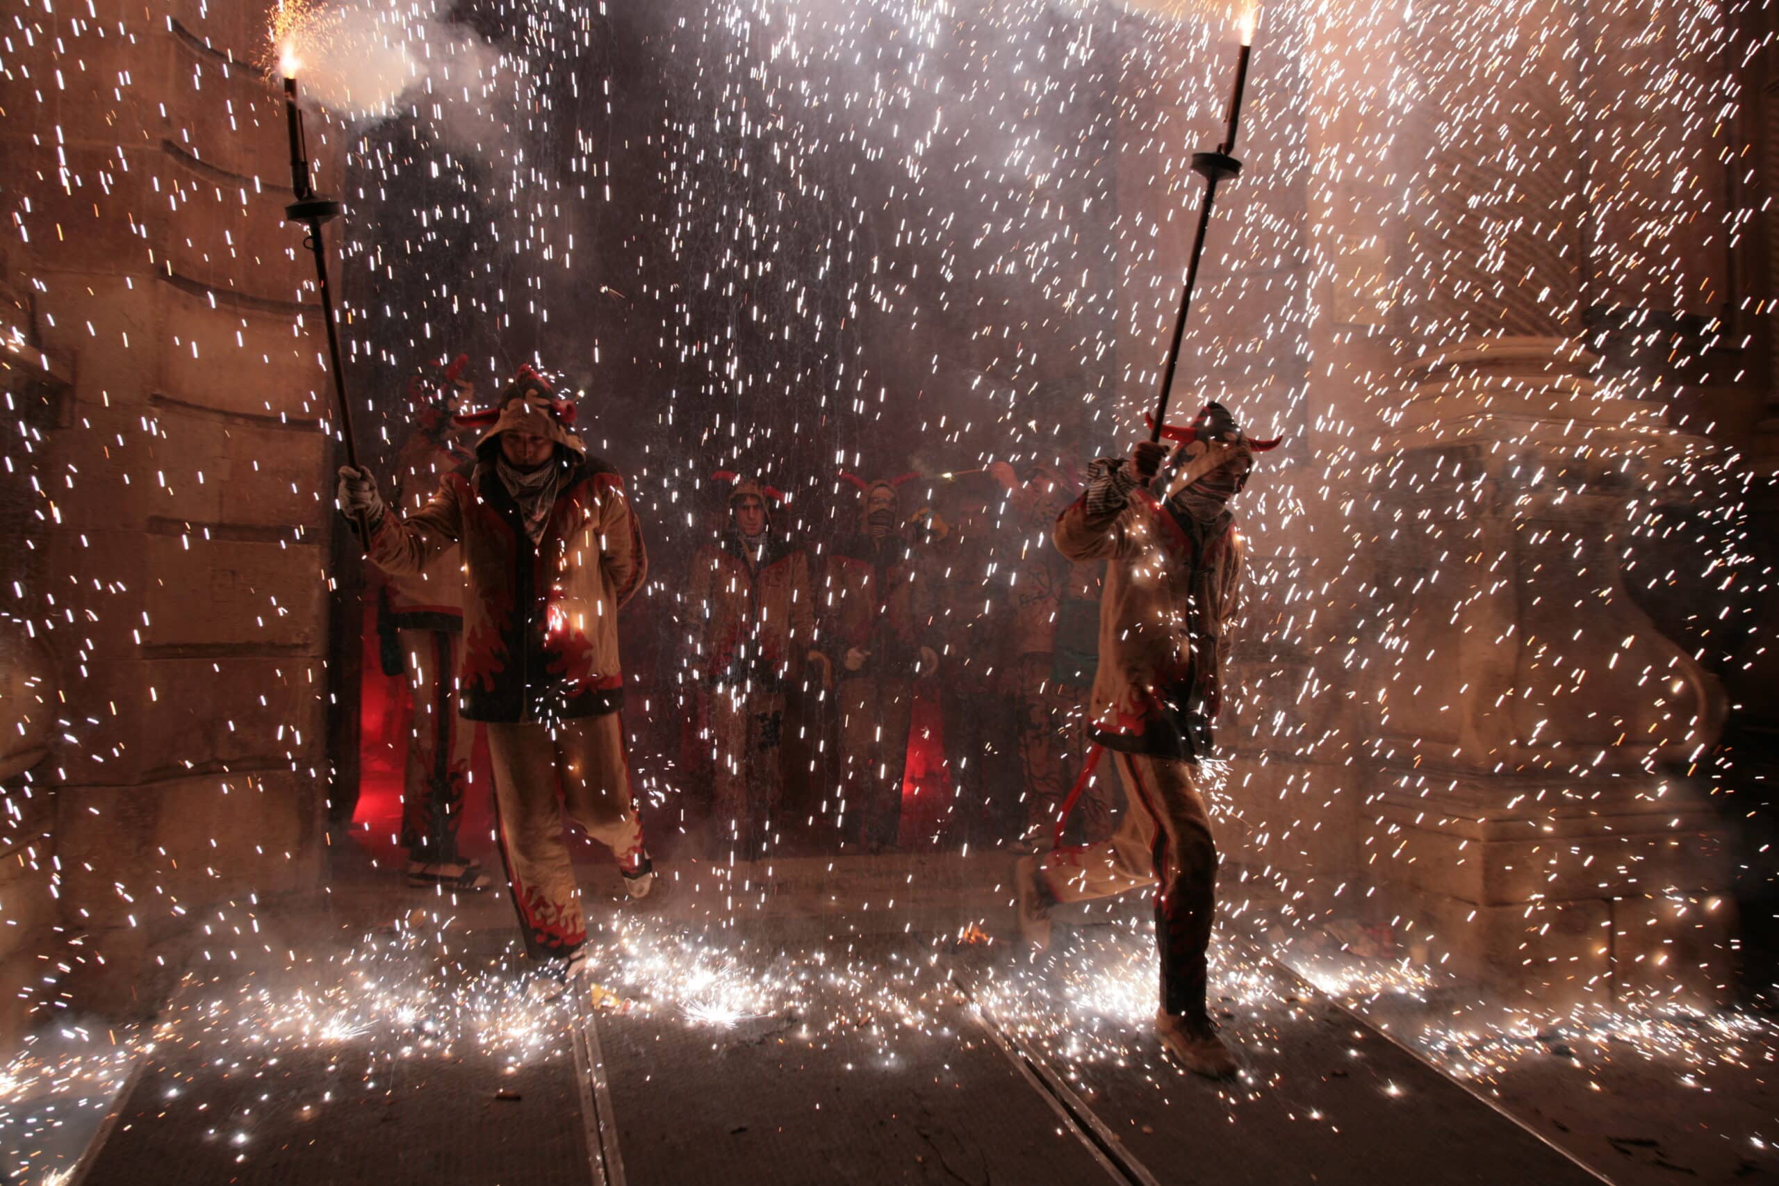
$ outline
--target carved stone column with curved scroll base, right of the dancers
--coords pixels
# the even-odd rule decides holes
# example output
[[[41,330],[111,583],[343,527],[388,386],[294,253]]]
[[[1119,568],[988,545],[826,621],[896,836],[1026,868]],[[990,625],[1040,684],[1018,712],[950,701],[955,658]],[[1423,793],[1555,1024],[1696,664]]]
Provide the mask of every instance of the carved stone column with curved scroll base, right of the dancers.
[[[1416,953],[1539,1003],[1722,996],[1724,837],[1688,781],[1724,697],[1621,580],[1686,448],[1580,340],[1596,92],[1582,5],[1416,5],[1404,384],[1373,468],[1375,866]],[[1603,292],[1606,288],[1601,288]],[[1703,445],[1703,443],[1699,443]]]

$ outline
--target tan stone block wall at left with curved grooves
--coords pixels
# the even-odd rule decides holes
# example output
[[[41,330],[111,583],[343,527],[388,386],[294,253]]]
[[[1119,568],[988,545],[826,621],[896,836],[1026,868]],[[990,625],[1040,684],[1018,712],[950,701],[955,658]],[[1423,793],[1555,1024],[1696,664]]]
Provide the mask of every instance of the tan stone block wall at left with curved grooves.
[[[5,782],[43,814],[0,966],[20,1006],[103,1008],[151,1003],[205,907],[318,884],[329,381],[270,5],[62,7],[25,12],[0,80],[5,331],[44,359],[7,372],[43,413],[7,445],[36,485],[4,503],[28,557],[0,597],[60,697]]]

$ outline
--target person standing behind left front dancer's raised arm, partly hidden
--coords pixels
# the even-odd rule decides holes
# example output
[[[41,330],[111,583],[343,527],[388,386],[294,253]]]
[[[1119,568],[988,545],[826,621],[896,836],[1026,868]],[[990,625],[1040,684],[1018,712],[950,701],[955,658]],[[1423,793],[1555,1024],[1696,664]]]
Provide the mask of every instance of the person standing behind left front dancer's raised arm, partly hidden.
[[[452,413],[468,395],[468,356],[434,384],[407,384],[415,430],[395,453],[395,505],[418,512],[445,475],[468,468]],[[382,672],[407,679],[413,720],[402,773],[402,832],[411,885],[486,889],[487,875],[457,852],[457,825],[470,781],[475,725],[457,718],[457,660],[463,651],[463,562],[450,546],[422,571],[388,574],[377,592]]]

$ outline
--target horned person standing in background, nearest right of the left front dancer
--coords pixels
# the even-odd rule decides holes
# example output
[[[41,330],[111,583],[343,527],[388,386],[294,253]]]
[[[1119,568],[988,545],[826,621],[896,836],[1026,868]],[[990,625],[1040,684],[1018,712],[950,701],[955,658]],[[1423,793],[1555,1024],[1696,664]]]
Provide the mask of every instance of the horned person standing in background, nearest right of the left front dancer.
[[[692,558],[699,736],[715,750],[715,820],[753,857],[765,852],[785,789],[785,693],[804,661],[825,685],[827,656],[813,649],[809,555],[772,523],[785,494],[726,469],[712,477],[729,485],[729,516]]]

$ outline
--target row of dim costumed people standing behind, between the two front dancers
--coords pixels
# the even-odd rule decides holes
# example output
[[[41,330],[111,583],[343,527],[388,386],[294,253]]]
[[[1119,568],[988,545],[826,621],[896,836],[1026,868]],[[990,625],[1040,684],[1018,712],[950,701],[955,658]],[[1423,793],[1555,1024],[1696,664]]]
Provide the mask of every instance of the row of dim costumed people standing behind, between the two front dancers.
[[[697,549],[685,589],[696,734],[687,765],[708,768],[713,852],[761,855],[776,839],[788,699],[809,686],[831,693],[838,717],[845,839],[868,853],[902,846],[914,702],[929,695],[952,784],[946,837],[1035,846],[1069,791],[1082,749],[1071,738],[1085,736],[1099,574],[1023,548],[994,509],[1048,530],[1067,478],[1041,468],[1021,485],[1010,466],[948,477],[934,505],[909,516],[904,489],[916,475],[838,477],[857,494],[856,526],[817,565],[774,523],[783,493],[712,475],[728,489],[728,517]],[[1062,645],[1069,622],[1075,647]],[[1073,827],[1110,836],[1103,788],[1080,800]]]

